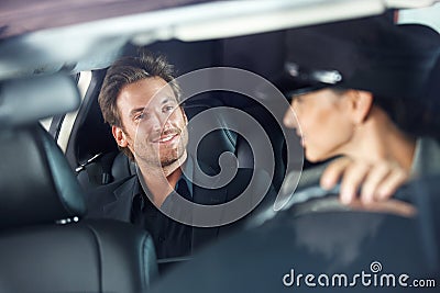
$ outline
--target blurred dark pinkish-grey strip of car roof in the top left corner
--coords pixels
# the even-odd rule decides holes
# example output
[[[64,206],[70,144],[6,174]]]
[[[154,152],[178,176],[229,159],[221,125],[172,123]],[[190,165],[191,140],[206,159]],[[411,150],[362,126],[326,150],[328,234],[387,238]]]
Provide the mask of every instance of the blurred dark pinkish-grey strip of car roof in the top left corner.
[[[200,2],[208,0],[7,0],[0,3],[0,40],[44,29]]]

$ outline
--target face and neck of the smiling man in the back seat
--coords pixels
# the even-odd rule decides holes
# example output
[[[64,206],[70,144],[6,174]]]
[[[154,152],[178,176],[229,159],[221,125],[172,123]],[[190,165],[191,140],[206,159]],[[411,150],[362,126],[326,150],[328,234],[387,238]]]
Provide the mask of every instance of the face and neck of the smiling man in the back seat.
[[[188,144],[188,120],[177,101],[178,88],[174,91],[164,78],[147,77],[124,86],[117,99],[121,125],[112,125],[118,145],[133,155],[156,206],[177,184]]]

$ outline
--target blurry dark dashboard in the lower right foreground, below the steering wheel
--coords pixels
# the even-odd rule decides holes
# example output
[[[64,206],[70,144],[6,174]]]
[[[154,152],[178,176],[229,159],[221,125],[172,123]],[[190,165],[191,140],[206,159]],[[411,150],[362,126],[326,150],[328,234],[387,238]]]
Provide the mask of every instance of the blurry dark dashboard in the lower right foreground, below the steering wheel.
[[[411,284],[415,279],[433,280],[436,285],[422,291],[439,292],[438,190],[435,177],[396,194],[416,201],[415,217],[350,211],[333,205],[334,198],[292,206],[201,251],[165,275],[153,292],[419,292],[417,283]],[[380,269],[373,269],[373,263]],[[364,273],[365,282],[361,281]],[[307,274],[312,278],[305,282]],[[326,285],[323,279],[318,281],[322,274],[330,281],[348,275],[348,283]],[[383,279],[386,274],[395,275],[394,285]],[[402,274],[409,275],[408,288],[398,283]]]

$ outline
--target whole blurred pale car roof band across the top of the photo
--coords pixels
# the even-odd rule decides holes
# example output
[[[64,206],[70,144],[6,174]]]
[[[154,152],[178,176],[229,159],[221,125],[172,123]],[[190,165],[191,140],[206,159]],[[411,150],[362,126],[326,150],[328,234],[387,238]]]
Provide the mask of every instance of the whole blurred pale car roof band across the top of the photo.
[[[128,43],[250,35],[410,5],[414,1],[7,0],[0,3],[0,80],[106,68]]]

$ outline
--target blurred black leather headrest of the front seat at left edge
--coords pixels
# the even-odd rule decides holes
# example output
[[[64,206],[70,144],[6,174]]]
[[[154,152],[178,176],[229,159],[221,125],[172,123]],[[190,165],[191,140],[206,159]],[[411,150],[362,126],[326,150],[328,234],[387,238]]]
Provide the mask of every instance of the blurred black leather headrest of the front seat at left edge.
[[[85,214],[73,170],[40,124],[1,129],[0,140],[0,228]]]

